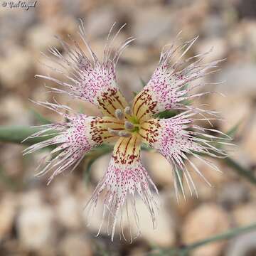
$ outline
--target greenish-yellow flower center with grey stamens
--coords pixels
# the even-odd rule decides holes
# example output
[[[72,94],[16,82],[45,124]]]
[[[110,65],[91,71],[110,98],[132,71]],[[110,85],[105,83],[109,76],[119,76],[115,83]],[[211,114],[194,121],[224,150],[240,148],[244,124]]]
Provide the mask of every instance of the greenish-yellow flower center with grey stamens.
[[[114,136],[119,137],[131,137],[133,133],[139,132],[139,121],[136,116],[132,114],[130,107],[125,107],[124,111],[117,109],[114,112],[115,117],[123,122],[123,129],[111,129],[108,128],[108,132]]]

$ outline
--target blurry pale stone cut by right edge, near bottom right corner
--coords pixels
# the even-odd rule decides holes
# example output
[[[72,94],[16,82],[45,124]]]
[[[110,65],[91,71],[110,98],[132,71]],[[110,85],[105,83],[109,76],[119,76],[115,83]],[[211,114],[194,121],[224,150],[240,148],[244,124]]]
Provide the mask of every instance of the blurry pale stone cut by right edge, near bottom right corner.
[[[246,203],[236,207],[233,210],[235,223],[239,226],[250,225],[255,223],[256,204]]]

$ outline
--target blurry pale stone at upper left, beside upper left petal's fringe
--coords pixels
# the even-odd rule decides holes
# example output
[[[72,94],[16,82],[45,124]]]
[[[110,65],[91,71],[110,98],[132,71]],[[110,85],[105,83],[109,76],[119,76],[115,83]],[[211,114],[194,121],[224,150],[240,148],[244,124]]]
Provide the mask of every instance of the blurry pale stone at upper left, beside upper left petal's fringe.
[[[44,52],[49,47],[58,48],[60,46],[54,36],[55,31],[50,26],[36,25],[27,32],[26,42],[31,49]]]

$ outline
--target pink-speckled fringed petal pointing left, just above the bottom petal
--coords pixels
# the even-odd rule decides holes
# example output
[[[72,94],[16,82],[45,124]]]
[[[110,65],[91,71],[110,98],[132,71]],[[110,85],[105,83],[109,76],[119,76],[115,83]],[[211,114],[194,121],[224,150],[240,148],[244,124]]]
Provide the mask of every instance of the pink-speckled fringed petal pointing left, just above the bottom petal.
[[[27,138],[45,137],[48,136],[46,132],[52,131],[52,138],[33,144],[24,151],[24,154],[30,154],[46,146],[56,146],[50,151],[49,160],[42,159],[38,166],[38,169],[41,169],[37,174],[38,176],[54,170],[48,183],[66,169],[71,167],[72,170],[75,169],[92,147],[100,146],[103,142],[111,142],[114,136],[107,131],[107,127],[120,125],[114,123],[112,117],[88,117],[85,114],[70,115],[66,113],[67,110],[70,110],[69,107],[48,102],[38,102],[38,104],[55,110],[66,119],[65,122],[39,126],[42,130]]]

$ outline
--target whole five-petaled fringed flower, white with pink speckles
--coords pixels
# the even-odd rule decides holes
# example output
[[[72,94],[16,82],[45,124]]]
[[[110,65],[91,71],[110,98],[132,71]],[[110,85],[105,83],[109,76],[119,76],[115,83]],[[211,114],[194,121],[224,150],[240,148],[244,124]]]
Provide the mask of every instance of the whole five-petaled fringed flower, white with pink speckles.
[[[208,134],[208,132],[222,133],[195,124],[195,120],[209,121],[209,119],[217,118],[216,113],[184,103],[186,100],[193,100],[195,97],[208,93],[193,93],[195,87],[203,84],[189,85],[189,83],[215,72],[214,68],[222,60],[203,64],[202,60],[206,53],[183,60],[183,56],[197,38],[181,46],[176,46],[176,42],[165,46],[161,52],[159,65],[151,79],[134,98],[132,105],[129,105],[117,86],[115,68],[119,56],[134,38],[127,38],[117,50],[112,50],[112,44],[122,29],[120,28],[110,40],[113,27],[107,37],[102,61],[97,58],[87,43],[85,30],[81,23],[80,37],[90,53],[90,58],[85,55],[77,41],[73,40],[74,46],[70,46],[59,39],[67,55],[64,56],[57,48],[50,48],[50,53],[57,58],[55,61],[64,71],[58,68],[53,70],[65,76],[68,82],[50,76],[37,75],[39,78],[53,81],[63,87],[63,89],[52,88],[53,91],[91,102],[101,110],[103,116],[68,114],[72,110],[67,106],[59,105],[57,102],[38,102],[39,105],[61,114],[65,122],[41,126],[43,129],[31,137],[44,136],[45,132],[52,130],[56,132],[55,137],[29,146],[25,151],[25,154],[28,154],[46,146],[56,146],[50,152],[50,156],[53,157],[49,161],[43,159],[44,166],[39,172],[39,175],[43,175],[53,170],[50,182],[53,177],[63,171],[71,167],[75,169],[91,149],[103,143],[115,143],[105,175],[87,203],[90,219],[98,199],[100,196],[103,197],[102,221],[107,219],[112,239],[117,223],[119,222],[122,228],[124,218],[130,220],[129,209],[132,209],[132,218],[139,234],[139,214],[135,206],[136,194],[142,198],[149,210],[153,225],[156,225],[158,206],[154,194],[158,192],[140,159],[142,144],[154,148],[173,166],[177,198],[178,187],[181,188],[185,197],[181,173],[191,194],[194,191],[197,195],[191,174],[184,164],[185,160],[208,183],[201,171],[188,158],[188,154],[195,156],[217,171],[219,171],[218,168],[204,159],[203,155],[225,156],[225,153],[216,146],[216,143],[220,142],[218,137]],[[184,68],[188,62],[190,64]],[[179,110],[180,113],[167,119],[159,119],[156,116],[159,112],[170,109]],[[208,118],[205,114],[210,114],[213,118]],[[102,223],[99,233],[101,227]],[[123,232],[122,235],[124,235]]]

